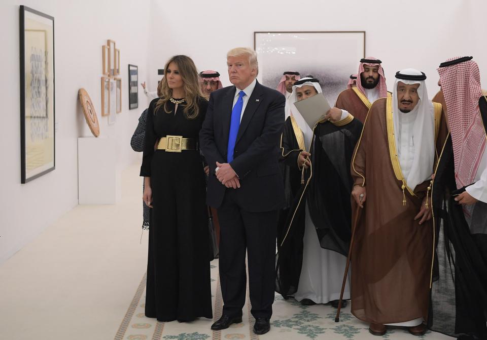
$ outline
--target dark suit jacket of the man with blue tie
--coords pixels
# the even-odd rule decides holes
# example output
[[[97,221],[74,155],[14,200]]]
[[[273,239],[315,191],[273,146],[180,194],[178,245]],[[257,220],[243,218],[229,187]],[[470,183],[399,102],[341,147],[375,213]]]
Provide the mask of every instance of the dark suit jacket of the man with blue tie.
[[[201,150],[210,165],[207,203],[222,204],[226,190],[236,190],[241,208],[270,211],[283,206],[284,184],[279,170],[279,142],[284,125],[285,97],[259,82],[243,111],[233,161],[240,188],[226,188],[215,175],[216,162],[227,162],[228,135],[235,87],[215,91],[210,96],[199,137]]]

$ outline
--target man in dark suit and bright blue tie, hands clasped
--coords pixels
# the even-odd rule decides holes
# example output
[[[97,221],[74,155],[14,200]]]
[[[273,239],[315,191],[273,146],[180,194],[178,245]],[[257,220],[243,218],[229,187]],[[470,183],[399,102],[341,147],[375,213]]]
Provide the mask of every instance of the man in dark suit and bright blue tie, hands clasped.
[[[275,239],[284,203],[278,165],[285,97],[257,80],[257,54],[236,48],[227,54],[234,86],[213,92],[200,132],[210,164],[207,203],[220,219],[220,284],[223,315],[213,330],[242,322],[249,263],[254,332],[270,329],[274,302]]]

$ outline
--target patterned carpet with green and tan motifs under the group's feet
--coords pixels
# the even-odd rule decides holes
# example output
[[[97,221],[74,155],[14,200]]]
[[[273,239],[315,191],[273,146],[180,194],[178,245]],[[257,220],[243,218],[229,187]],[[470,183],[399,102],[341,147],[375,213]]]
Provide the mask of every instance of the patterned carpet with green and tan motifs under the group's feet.
[[[233,324],[228,329],[212,331],[212,323],[222,313],[223,301],[218,276],[218,260],[211,264],[213,320],[199,318],[193,322],[180,323],[156,322],[146,318],[145,277],[132,299],[115,340],[259,340],[254,334],[254,318],[250,314],[249,291],[247,288],[247,304],[243,308],[242,323]],[[284,300],[275,295],[271,319],[271,330],[262,335],[265,340],[447,340],[452,337],[428,331],[423,336],[414,336],[403,328],[388,329],[383,336],[369,333],[368,324],[355,318],[350,312],[350,304],[342,308],[340,322],[335,322],[336,309],[330,305],[303,306],[294,299]]]

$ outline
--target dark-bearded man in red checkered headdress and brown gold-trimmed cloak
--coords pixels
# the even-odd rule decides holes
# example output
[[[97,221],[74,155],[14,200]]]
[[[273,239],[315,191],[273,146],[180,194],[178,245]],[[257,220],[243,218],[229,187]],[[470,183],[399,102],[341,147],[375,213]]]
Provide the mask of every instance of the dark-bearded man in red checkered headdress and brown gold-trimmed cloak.
[[[381,63],[374,57],[360,59],[357,86],[342,91],[338,95],[335,107],[349,111],[362,123],[365,122],[372,103],[379,98],[387,97],[386,78]]]

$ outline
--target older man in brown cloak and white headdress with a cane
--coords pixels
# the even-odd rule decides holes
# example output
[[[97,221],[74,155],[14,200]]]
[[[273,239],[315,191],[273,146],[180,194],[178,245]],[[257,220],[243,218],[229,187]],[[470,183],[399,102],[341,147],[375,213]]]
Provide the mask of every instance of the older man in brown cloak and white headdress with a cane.
[[[434,248],[430,182],[447,135],[426,75],[396,73],[391,97],[372,104],[352,160],[352,313],[384,335],[386,325],[426,331]],[[360,208],[358,207],[360,206]]]

